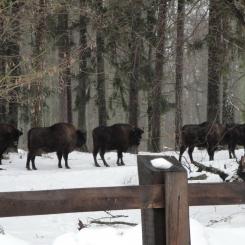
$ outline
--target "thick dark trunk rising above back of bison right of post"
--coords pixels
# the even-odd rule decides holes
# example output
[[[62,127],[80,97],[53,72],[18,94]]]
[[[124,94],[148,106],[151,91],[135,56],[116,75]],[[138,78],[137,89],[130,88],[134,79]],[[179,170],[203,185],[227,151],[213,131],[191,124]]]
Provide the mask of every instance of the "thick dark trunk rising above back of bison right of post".
[[[209,1],[207,119],[216,122],[221,117],[222,9],[221,0]]]

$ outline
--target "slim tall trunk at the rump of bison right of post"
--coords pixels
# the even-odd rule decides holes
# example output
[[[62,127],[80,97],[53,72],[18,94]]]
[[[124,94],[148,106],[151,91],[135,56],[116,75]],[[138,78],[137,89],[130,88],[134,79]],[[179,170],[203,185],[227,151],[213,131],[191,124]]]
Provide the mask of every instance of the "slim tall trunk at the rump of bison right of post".
[[[178,0],[177,10],[177,40],[175,60],[175,149],[179,148],[182,128],[182,103],[183,103],[183,61],[184,61],[184,23],[185,23],[185,0]]]

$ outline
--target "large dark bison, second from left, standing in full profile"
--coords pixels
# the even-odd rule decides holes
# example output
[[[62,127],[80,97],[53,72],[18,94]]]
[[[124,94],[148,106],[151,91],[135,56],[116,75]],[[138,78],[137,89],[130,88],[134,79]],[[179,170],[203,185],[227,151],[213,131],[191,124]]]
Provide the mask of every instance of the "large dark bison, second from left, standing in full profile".
[[[65,167],[68,165],[68,154],[75,148],[81,147],[86,142],[84,132],[77,130],[70,123],[56,123],[51,127],[37,127],[28,131],[28,155],[26,168],[36,170],[35,157],[42,153],[56,152],[58,167],[62,168],[62,156],[65,160]]]

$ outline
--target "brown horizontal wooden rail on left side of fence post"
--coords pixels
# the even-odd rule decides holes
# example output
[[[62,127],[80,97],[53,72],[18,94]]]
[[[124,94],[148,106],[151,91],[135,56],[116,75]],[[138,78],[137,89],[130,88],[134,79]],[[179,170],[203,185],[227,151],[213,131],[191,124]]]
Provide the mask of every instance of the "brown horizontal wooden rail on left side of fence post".
[[[160,208],[161,185],[0,192],[0,217]]]

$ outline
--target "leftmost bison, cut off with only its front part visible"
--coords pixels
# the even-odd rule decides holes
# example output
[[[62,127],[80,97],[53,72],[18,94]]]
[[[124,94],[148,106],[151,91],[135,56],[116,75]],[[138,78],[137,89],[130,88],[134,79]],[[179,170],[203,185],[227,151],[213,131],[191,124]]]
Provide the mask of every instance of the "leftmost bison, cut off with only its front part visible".
[[[0,123],[0,164],[2,155],[9,148],[17,148],[19,137],[23,133],[11,124]]]

